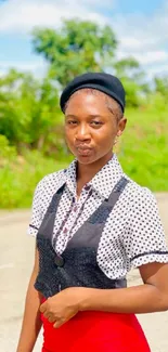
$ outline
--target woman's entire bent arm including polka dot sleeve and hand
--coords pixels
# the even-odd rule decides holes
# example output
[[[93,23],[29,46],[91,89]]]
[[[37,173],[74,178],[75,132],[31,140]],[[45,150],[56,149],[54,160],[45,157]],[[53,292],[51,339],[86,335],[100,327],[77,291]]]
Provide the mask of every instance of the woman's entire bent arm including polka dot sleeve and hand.
[[[78,311],[148,313],[168,310],[168,251],[156,201],[148,191],[137,198],[121,237],[128,263],[139,268],[143,285],[120,289],[70,287],[40,308],[54,327]],[[165,263],[165,264],[164,264]]]

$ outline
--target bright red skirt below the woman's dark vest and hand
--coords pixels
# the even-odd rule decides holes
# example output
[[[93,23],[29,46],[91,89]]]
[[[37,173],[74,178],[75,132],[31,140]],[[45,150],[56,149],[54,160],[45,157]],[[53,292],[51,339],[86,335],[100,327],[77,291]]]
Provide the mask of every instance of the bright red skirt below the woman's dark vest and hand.
[[[134,314],[79,312],[60,328],[41,314],[41,352],[150,352]]]

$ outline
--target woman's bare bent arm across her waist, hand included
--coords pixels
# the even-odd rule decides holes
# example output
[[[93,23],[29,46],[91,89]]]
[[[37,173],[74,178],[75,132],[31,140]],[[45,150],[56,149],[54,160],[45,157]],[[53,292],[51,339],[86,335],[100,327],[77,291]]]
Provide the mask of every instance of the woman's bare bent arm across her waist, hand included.
[[[143,285],[118,289],[69,287],[49,298],[40,310],[56,328],[79,311],[137,314],[168,310],[168,264],[154,262],[139,270]]]

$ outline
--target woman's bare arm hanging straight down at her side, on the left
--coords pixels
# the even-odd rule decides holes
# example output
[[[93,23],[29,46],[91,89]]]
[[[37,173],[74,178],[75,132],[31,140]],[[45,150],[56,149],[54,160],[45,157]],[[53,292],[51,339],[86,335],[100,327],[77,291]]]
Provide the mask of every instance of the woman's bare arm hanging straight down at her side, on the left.
[[[22,331],[16,352],[31,352],[41,328],[39,311],[41,297],[40,294],[34,288],[38,269],[39,255],[38,250],[36,249],[35,265],[27,289]]]

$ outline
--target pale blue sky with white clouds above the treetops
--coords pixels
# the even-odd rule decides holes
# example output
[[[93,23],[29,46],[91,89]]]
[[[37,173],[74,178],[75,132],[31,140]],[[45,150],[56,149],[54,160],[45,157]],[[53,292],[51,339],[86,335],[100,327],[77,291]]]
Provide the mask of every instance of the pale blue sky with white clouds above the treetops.
[[[168,74],[168,0],[0,1],[0,74],[9,67],[43,75],[46,62],[33,52],[35,26],[56,28],[62,17],[112,25],[118,57],[134,56],[150,77]]]

